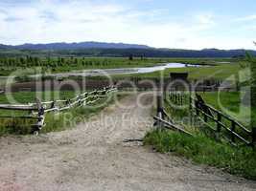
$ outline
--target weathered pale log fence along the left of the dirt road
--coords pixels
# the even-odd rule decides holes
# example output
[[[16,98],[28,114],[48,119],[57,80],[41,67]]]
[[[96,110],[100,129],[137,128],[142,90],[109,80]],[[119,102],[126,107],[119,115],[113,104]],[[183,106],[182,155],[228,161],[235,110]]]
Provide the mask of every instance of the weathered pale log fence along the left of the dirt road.
[[[93,104],[98,100],[109,96],[112,92],[116,92],[115,87],[105,87],[102,90],[95,90],[93,92],[85,92],[80,96],[75,96],[71,99],[66,100],[53,100],[41,102],[36,100],[36,103],[30,104],[0,104],[0,110],[11,110],[11,111],[27,111],[30,112],[29,116],[10,116],[1,115],[0,118],[25,118],[25,119],[35,119],[36,123],[33,125],[33,133],[38,134],[39,131],[44,126],[44,119],[47,113],[51,112],[62,112],[69,110],[74,107],[85,106]]]

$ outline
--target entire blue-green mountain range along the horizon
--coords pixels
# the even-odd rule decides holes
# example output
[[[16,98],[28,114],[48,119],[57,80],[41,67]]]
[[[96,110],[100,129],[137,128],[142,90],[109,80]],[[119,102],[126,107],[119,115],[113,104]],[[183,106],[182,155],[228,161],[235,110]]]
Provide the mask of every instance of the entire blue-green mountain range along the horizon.
[[[0,55],[75,55],[75,56],[147,56],[147,57],[240,57],[245,52],[256,55],[252,50],[203,49],[179,50],[156,49],[146,45],[104,42],[50,43],[50,44],[0,44]]]

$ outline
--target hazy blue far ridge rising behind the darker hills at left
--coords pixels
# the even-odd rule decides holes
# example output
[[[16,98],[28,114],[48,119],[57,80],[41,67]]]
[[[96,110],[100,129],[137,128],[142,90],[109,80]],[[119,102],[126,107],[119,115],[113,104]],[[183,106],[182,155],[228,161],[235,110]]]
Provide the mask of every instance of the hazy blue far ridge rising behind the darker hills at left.
[[[79,50],[79,49],[150,49],[146,45],[105,43],[105,42],[80,42],[80,43],[49,43],[49,44],[22,44],[17,46],[1,45],[0,49],[18,50]]]

